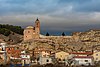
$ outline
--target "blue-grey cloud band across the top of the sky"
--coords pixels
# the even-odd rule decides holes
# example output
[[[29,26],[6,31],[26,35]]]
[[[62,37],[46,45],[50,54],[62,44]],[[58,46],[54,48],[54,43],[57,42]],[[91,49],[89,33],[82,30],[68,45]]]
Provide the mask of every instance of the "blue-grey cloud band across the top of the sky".
[[[0,14],[52,14],[59,10],[66,13],[68,6],[73,12],[99,12],[99,4],[100,0],[0,0]]]

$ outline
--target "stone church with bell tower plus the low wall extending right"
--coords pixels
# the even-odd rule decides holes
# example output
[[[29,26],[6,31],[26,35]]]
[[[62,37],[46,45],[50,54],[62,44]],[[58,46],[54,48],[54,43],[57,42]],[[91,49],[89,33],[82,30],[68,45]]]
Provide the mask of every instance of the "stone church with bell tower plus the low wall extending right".
[[[74,38],[75,37],[75,38]],[[53,35],[50,35],[50,36],[45,36],[45,35],[41,35],[40,34],[40,21],[39,19],[37,18],[36,21],[35,21],[35,25],[34,26],[28,26],[24,29],[24,41],[27,41],[27,40],[32,40],[32,39],[62,39],[62,38],[65,38],[67,39],[68,41],[69,40],[73,40],[76,39],[78,40],[78,36],[53,36]],[[78,38],[78,39],[77,39]]]

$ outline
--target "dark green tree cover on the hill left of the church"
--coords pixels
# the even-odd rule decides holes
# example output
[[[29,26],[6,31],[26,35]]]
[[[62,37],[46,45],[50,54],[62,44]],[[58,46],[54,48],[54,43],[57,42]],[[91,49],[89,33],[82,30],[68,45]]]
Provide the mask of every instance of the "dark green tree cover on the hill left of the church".
[[[11,32],[23,35],[23,30],[21,26],[13,26],[9,24],[0,24],[0,34],[9,36]]]

